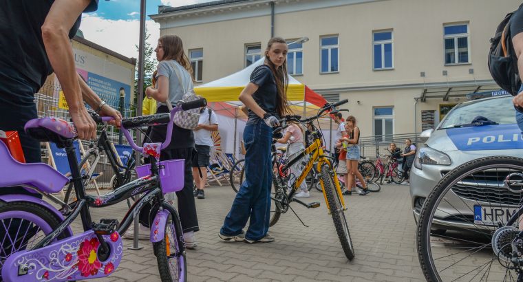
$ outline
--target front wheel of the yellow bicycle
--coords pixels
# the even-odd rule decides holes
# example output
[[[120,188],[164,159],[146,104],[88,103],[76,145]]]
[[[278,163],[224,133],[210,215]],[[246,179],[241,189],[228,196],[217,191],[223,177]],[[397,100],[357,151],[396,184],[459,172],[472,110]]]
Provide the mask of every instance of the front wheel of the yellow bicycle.
[[[341,199],[337,189],[334,186],[334,180],[330,174],[330,166],[323,164],[321,166],[321,182],[325,188],[325,195],[327,195],[327,202],[330,207],[330,215],[332,221],[334,221],[334,227],[338,233],[338,238],[341,243],[341,248],[345,252],[345,257],[349,260],[354,259],[354,246],[352,246],[352,240],[350,239],[349,226],[347,219],[345,219],[345,211],[341,205]]]

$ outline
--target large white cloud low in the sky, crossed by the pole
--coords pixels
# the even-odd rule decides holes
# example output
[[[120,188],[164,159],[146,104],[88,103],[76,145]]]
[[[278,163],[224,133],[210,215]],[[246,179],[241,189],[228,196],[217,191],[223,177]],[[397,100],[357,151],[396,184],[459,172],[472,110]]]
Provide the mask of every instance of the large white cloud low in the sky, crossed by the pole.
[[[160,37],[160,24],[145,22],[148,43],[154,48]],[[110,20],[92,14],[83,14],[80,29],[85,39],[129,58],[138,58],[135,45],[139,43],[139,20]],[[153,53],[154,56],[154,53]]]

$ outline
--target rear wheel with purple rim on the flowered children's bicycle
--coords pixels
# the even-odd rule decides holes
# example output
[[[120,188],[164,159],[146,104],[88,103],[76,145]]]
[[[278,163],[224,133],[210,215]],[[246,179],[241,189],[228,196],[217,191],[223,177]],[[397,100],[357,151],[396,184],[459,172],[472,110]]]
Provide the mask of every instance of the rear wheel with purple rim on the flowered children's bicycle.
[[[0,281],[4,261],[14,252],[29,250],[58,228],[61,220],[47,208],[28,202],[0,202]],[[56,239],[70,237],[67,231]]]

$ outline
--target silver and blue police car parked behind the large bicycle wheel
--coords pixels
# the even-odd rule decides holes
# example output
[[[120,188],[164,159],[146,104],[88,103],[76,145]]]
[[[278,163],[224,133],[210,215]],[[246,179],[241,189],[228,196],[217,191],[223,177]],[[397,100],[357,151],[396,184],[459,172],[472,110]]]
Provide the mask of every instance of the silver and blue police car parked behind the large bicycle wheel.
[[[412,196],[412,211],[418,221],[425,198],[438,184],[445,173],[470,160],[491,156],[511,155],[523,158],[523,139],[521,130],[516,124],[515,109],[512,96],[498,96],[462,102],[456,105],[433,130],[423,131],[421,137],[429,137],[425,147],[416,152],[414,166],[410,175],[410,194]],[[471,189],[470,191],[466,191]],[[453,188],[447,201],[449,205],[467,201],[467,195],[473,195],[474,186],[466,186],[461,190]],[[468,199],[472,200],[472,199]],[[487,219],[482,213],[502,213],[510,210],[457,210],[460,216],[470,216],[478,221]],[[473,215],[472,215],[473,213]],[[484,217],[484,218],[483,218]],[[446,217],[451,218],[451,217]],[[436,221],[442,228],[441,232],[453,229],[456,222],[439,218]],[[436,222],[435,221],[435,222]],[[475,221],[475,223],[478,223]],[[472,223],[471,223],[472,224]],[[488,224],[482,222],[482,224]],[[464,226],[460,226],[464,228]]]

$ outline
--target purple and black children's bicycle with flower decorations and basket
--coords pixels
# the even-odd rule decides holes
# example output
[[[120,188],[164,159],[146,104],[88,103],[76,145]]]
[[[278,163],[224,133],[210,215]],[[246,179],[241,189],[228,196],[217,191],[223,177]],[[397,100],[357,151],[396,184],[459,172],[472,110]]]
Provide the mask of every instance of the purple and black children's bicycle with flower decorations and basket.
[[[120,234],[131,226],[145,204],[151,204],[150,240],[162,281],[186,281],[185,246],[178,212],[164,200],[165,193],[180,191],[184,183],[184,160],[158,161],[160,150],[171,142],[174,114],[180,110],[204,107],[206,100],[181,102],[170,113],[124,118],[121,130],[134,150],[149,159],[137,166],[138,179],[106,195],[86,195],[78,169],[73,141],[76,130],[57,118],[39,118],[25,124],[33,138],[51,141],[65,148],[77,201],[70,204],[67,217],[30,195],[0,196],[0,281],[72,281],[109,276],[120,263],[123,245]],[[112,118],[94,118],[103,123]],[[127,129],[166,124],[163,143],[138,147]],[[21,164],[0,142],[0,187],[23,186],[42,195],[56,193],[70,180],[47,164]],[[142,194],[123,217],[92,222],[89,208],[103,208]],[[73,235],[70,224],[78,215],[84,232]]]

